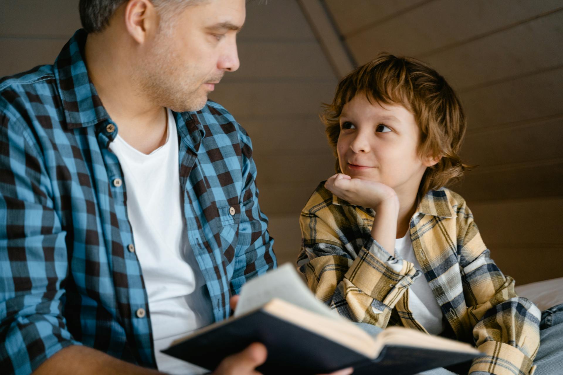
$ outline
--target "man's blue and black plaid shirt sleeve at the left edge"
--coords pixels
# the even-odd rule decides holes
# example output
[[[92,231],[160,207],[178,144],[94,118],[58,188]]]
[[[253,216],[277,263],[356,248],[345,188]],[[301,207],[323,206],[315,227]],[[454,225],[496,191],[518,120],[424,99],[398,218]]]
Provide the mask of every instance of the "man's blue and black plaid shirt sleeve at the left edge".
[[[0,111],[0,368],[24,375],[80,343],[61,313],[66,234],[50,180],[25,127],[2,102]]]

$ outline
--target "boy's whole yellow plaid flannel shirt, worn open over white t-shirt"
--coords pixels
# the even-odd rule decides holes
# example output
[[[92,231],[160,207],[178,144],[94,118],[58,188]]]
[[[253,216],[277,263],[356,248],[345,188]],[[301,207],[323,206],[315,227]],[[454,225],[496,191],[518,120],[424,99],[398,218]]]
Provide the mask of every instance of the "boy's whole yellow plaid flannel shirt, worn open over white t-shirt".
[[[461,196],[430,191],[410,220],[422,270],[373,240],[374,211],[334,196],[324,182],[301,212],[297,264],[315,296],[354,322],[426,332],[409,310],[409,286],[422,273],[457,340],[485,353],[473,371],[531,375],[539,347],[539,309],[514,292],[514,280],[489,256]]]

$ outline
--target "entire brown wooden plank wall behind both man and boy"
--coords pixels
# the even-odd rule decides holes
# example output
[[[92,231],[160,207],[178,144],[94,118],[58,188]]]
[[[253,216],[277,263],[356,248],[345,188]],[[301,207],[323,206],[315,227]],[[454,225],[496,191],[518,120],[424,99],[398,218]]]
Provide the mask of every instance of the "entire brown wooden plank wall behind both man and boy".
[[[387,51],[446,76],[469,118],[463,156],[480,165],[456,189],[494,259],[519,284],[561,277],[561,1],[321,1],[358,64]],[[54,61],[80,27],[77,4],[2,0],[0,76]],[[283,263],[300,247],[301,208],[333,173],[318,113],[337,76],[294,0],[247,9],[242,65],[211,98],[253,139],[260,202]]]

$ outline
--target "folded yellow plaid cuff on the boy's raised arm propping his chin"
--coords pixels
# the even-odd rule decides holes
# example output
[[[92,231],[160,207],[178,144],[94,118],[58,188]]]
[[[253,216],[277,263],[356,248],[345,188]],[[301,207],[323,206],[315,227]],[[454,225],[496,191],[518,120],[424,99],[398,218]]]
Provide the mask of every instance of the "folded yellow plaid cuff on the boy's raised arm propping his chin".
[[[345,278],[374,300],[392,307],[419,274],[412,263],[391,256],[369,237]]]

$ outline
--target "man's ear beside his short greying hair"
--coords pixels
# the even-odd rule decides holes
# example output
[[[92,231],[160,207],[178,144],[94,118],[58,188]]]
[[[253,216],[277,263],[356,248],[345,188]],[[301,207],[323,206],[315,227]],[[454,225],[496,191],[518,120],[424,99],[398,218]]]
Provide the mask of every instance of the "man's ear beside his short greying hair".
[[[129,0],[124,13],[126,29],[137,43],[144,43],[148,35],[157,32],[157,10],[149,0]]]

